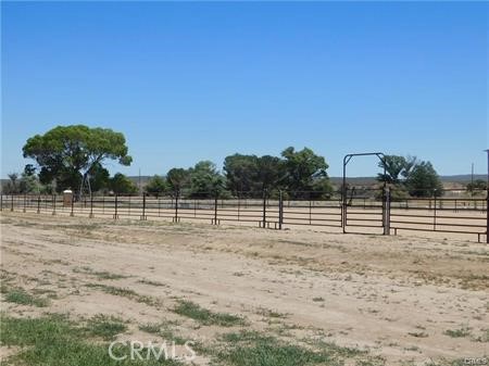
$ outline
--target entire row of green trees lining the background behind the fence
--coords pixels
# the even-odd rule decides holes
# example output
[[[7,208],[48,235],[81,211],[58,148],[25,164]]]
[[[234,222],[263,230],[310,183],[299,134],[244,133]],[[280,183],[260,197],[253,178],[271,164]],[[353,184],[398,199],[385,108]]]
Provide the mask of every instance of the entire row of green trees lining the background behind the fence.
[[[27,165],[24,173],[11,175],[3,191],[54,192],[71,188],[79,193],[84,187],[91,191],[118,194],[136,193],[138,187],[121,173],[110,176],[106,161],[130,165],[131,157],[123,134],[106,128],[84,125],[58,126],[45,135],[29,138],[23,148],[24,157],[36,165]],[[379,182],[392,188],[396,197],[426,197],[442,193],[441,181],[429,162],[415,157],[388,155],[379,164],[386,173]],[[150,194],[179,193],[193,198],[237,195],[281,189],[290,197],[325,198],[334,192],[327,176],[328,164],[309,148],[285,149],[280,156],[229,155],[221,173],[209,161],[191,168],[172,168],[154,176],[145,187]]]

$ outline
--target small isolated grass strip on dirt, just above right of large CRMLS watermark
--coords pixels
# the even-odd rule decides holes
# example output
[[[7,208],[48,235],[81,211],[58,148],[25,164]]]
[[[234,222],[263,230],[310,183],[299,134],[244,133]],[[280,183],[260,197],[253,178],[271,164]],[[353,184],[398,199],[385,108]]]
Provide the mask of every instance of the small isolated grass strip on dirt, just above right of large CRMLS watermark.
[[[214,313],[210,310],[201,307],[195,302],[187,300],[180,300],[173,311],[179,315],[192,318],[205,326],[216,325],[222,327],[230,327],[244,324],[244,319],[238,315]]]

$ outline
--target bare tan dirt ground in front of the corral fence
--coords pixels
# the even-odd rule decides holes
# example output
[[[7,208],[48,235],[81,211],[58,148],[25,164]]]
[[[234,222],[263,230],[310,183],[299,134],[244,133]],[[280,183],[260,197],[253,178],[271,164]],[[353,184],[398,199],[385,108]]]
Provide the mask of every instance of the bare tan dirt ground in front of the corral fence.
[[[251,329],[368,350],[386,365],[489,354],[489,245],[450,237],[3,212],[1,265],[11,283],[55,294],[43,308],[2,301],[3,312],[113,314],[133,324],[124,338],[148,337],[136,325],[165,318],[184,337],[212,342],[222,327],[168,311],[186,299],[241,315]]]

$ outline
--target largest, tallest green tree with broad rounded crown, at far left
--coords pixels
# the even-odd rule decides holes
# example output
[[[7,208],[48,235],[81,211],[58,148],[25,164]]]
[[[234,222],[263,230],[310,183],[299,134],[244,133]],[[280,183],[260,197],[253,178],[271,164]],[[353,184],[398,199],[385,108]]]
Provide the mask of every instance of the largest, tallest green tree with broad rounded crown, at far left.
[[[106,160],[130,165],[126,139],[109,128],[85,125],[58,126],[27,140],[24,157],[34,159],[40,167],[41,182],[57,181],[57,189],[79,189],[90,171]]]

